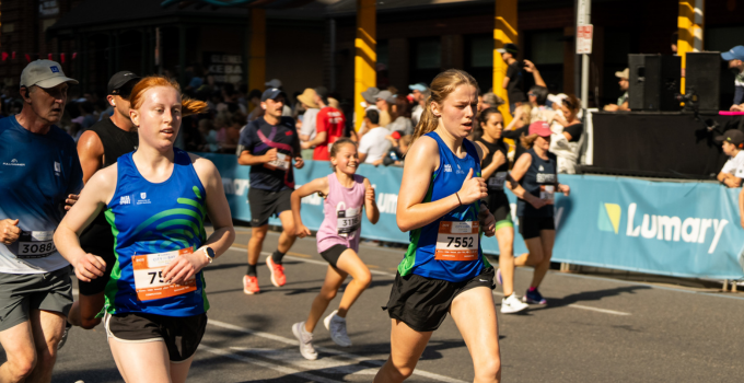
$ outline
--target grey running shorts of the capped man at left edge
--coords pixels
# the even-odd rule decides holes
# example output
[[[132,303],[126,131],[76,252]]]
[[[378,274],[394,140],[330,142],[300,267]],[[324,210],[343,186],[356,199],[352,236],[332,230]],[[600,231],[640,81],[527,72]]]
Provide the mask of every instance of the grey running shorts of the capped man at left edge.
[[[70,266],[45,274],[0,272],[0,332],[30,320],[32,310],[60,313],[72,306]]]

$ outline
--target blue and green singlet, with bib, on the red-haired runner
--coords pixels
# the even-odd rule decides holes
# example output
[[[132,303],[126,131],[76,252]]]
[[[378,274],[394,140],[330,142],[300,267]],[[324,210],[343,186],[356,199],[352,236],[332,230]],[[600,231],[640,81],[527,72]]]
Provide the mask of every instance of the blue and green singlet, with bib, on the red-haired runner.
[[[105,211],[116,253],[105,290],[109,314],[191,316],[209,310],[202,272],[185,285],[161,279],[160,271],[179,252],[195,252],[207,240],[204,185],[188,153],[173,150],[173,173],[160,184],[142,177],[133,153],[117,162],[116,192]]]

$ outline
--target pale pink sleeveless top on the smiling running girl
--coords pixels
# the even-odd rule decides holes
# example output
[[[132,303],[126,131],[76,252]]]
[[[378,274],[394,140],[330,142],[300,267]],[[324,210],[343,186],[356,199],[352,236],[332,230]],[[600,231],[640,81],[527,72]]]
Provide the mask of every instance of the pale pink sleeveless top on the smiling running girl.
[[[353,175],[353,186],[344,187],[336,173],[328,174],[328,196],[323,202],[325,218],[317,231],[317,252],[344,245],[359,252],[364,206],[364,177]]]

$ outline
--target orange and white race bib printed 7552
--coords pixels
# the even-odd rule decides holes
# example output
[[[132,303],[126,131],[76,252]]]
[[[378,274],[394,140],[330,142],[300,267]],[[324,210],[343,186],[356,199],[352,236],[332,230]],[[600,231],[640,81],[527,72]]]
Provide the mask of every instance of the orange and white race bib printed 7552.
[[[478,259],[478,241],[477,221],[442,221],[439,223],[434,259]]]

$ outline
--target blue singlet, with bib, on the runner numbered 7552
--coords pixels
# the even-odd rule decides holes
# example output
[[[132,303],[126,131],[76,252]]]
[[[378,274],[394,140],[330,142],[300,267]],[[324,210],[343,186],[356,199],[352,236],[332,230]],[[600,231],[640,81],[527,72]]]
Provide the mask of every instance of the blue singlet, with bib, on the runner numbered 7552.
[[[449,197],[460,190],[470,169],[480,176],[480,163],[475,144],[467,139],[463,146],[467,155],[460,159],[435,132],[426,137],[437,140],[439,169],[431,175],[429,190],[421,204]],[[480,204],[463,205],[435,221],[411,230],[410,244],[398,265],[400,276],[415,274],[426,278],[461,282],[478,276],[490,267],[483,256],[478,227]]]

